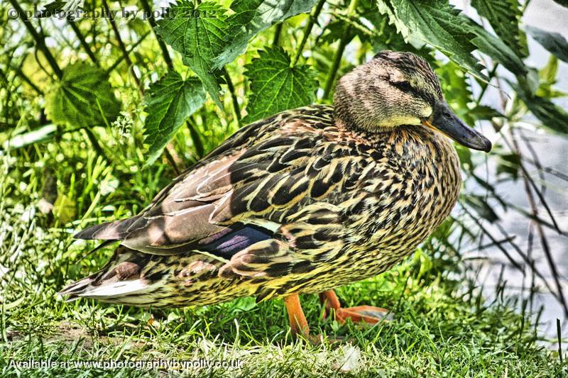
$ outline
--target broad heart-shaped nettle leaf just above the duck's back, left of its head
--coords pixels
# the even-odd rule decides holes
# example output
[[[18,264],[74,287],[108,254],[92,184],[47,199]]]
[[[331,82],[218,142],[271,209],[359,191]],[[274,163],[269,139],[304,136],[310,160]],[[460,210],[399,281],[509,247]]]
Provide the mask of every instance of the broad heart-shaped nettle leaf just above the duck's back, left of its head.
[[[245,66],[252,95],[244,122],[312,104],[318,84],[310,66],[290,67],[290,55],[280,47],[261,50],[258,55]]]

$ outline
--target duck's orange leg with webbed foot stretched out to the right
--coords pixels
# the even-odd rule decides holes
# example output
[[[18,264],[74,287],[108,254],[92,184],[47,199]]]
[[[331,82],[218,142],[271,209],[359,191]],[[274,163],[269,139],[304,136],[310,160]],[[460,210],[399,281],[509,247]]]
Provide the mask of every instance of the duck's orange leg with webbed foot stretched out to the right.
[[[339,304],[339,298],[333,290],[327,290],[320,293],[320,301],[325,306],[324,317],[333,310],[335,320],[340,323],[345,323],[349,318],[353,322],[365,322],[375,324],[387,318],[388,310],[381,307],[374,306],[355,306],[349,308],[342,308]]]

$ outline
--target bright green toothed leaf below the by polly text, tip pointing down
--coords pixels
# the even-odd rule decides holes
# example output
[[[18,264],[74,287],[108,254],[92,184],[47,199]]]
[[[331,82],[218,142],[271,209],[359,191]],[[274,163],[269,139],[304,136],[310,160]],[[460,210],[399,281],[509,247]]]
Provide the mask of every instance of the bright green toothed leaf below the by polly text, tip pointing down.
[[[203,87],[219,106],[219,74],[214,72],[212,60],[222,52],[228,24],[225,9],[219,4],[205,1],[198,6],[182,0],[171,4],[171,18],[158,21],[155,29],[168,45],[182,55],[203,83]]]

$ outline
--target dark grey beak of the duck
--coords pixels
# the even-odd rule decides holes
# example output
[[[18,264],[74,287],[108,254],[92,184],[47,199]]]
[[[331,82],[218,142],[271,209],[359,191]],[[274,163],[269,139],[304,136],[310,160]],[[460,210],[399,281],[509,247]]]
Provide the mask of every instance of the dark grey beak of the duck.
[[[491,151],[491,142],[483,134],[461,121],[445,102],[437,101],[430,118],[432,121],[423,120],[422,123],[442,131],[442,133],[460,145],[473,148],[474,150]]]

